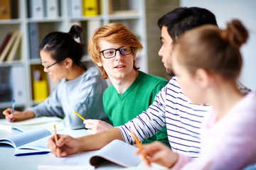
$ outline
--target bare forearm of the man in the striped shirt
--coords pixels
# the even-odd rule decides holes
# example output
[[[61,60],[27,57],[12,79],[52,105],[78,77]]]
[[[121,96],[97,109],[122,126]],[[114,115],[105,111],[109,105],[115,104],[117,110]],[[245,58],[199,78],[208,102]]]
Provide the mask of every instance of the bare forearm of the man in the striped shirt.
[[[112,140],[124,141],[121,132],[117,128],[105,130],[104,132],[100,132],[95,135],[78,137],[77,140],[80,144],[79,151],[100,149],[108,143],[112,142]]]

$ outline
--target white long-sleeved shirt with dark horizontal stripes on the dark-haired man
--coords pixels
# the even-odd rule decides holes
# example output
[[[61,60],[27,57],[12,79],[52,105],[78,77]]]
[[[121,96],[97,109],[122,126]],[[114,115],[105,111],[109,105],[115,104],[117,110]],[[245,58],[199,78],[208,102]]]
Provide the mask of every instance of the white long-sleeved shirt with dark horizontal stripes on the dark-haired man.
[[[247,89],[238,84],[241,91]],[[196,158],[201,150],[201,130],[210,117],[210,106],[192,104],[173,77],[156,95],[154,103],[137,118],[117,128],[124,142],[134,144],[129,130],[143,141],[166,125],[168,140],[174,152]]]

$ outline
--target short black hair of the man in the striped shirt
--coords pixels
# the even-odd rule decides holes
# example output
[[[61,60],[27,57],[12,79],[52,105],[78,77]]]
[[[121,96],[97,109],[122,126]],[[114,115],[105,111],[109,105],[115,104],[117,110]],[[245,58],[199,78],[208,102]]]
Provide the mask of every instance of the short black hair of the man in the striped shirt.
[[[186,30],[205,24],[218,26],[213,13],[206,8],[198,7],[175,8],[173,11],[159,18],[158,21],[159,28],[163,26],[168,28],[168,33],[174,42],[176,42],[176,38],[186,32]]]

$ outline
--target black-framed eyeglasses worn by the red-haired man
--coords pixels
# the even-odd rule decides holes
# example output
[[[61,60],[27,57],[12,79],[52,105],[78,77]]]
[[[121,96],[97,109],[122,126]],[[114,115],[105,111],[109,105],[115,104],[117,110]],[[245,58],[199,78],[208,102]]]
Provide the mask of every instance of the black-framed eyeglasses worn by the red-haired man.
[[[107,50],[102,50],[102,55],[105,57],[105,59],[110,59],[116,56],[117,50],[121,53],[121,55],[129,55],[132,54],[132,47],[129,46],[122,46],[117,49],[110,48]]]

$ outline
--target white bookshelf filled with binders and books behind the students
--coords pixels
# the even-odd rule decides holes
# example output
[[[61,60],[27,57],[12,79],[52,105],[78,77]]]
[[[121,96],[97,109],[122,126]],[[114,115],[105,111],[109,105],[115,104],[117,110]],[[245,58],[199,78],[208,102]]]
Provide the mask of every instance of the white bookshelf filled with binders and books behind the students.
[[[11,19],[0,20],[0,41],[2,42],[6,35],[15,30],[19,30],[22,34],[21,43],[16,50],[14,60],[11,62],[2,62],[0,64],[0,110],[11,107],[11,101],[16,98],[15,95],[21,97],[16,103],[16,108],[27,108],[41,101],[35,101],[33,94],[34,89],[34,70],[40,69],[41,66],[38,52],[39,42],[43,37],[52,31],[68,32],[70,26],[79,24],[83,29],[83,41],[88,44],[91,33],[99,26],[107,23],[123,23],[130,28],[144,45],[144,50],[137,55],[137,66],[142,71],[148,72],[147,54],[146,54],[146,16],[145,16],[145,0],[96,0],[96,14],[90,11],[90,16],[83,16],[83,3],[92,3],[92,0],[4,0],[11,4]],[[38,4],[33,4],[33,3]],[[53,3],[54,11],[47,11],[48,4]],[[73,13],[72,3],[81,3],[80,12]],[[40,6],[43,4],[43,17],[33,11],[31,6]],[[57,4],[57,5],[55,5]],[[1,4],[0,4],[1,5]],[[89,5],[89,7],[88,7]],[[87,8],[94,8],[95,4],[88,4]],[[40,10],[39,10],[40,11]],[[52,13],[50,13],[52,12]],[[50,13],[50,14],[48,14]],[[39,16],[36,16],[39,15]],[[30,26],[36,26],[38,45],[31,43],[34,32]],[[0,42],[0,43],[1,43]],[[34,45],[35,46],[35,45]],[[33,50],[33,52],[31,51]],[[86,55],[83,61],[90,65],[93,63],[86,48]],[[19,75],[16,76],[16,72]],[[2,74],[4,73],[4,74]],[[43,74],[43,73],[42,73]],[[47,91],[50,94],[54,87],[58,84],[53,82],[47,75],[43,75],[43,79],[47,81]],[[14,83],[15,82],[15,83]],[[18,84],[16,84],[18,82]],[[14,91],[18,94],[14,94]],[[4,94],[5,93],[5,94]],[[47,94],[47,96],[48,96]],[[16,100],[17,101],[17,100]]]

